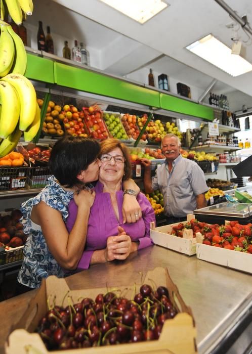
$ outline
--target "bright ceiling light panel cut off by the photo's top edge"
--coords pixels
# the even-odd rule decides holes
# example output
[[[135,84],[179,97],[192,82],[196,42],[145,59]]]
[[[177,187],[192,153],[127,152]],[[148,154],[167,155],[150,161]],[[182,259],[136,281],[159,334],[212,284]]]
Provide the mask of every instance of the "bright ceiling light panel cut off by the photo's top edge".
[[[100,0],[124,15],[143,24],[170,6],[166,0]]]

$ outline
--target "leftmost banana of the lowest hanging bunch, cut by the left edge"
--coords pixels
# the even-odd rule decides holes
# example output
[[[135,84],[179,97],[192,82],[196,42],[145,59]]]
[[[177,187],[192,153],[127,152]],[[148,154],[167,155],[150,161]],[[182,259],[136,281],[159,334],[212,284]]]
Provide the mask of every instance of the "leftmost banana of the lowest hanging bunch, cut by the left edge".
[[[15,129],[19,114],[20,101],[14,87],[7,81],[0,81],[0,138],[7,138]]]

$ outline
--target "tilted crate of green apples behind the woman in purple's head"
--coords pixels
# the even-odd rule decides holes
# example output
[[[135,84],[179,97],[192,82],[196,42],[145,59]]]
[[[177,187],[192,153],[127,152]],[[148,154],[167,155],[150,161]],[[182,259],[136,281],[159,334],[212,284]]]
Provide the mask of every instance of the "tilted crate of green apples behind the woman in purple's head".
[[[111,136],[119,140],[129,140],[124,126],[121,123],[120,116],[121,114],[119,112],[103,111],[103,118]]]

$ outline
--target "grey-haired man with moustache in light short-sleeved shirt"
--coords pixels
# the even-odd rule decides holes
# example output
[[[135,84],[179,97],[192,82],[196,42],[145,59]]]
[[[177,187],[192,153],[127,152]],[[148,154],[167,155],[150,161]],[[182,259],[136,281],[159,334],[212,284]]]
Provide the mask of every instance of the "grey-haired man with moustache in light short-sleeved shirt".
[[[204,193],[208,190],[204,173],[196,162],[180,154],[181,142],[174,134],[167,134],[161,143],[166,160],[158,165],[151,178],[150,160],[141,159],[145,167],[146,193],[160,190],[163,195],[164,213],[169,223],[186,219],[187,214],[206,206]]]

